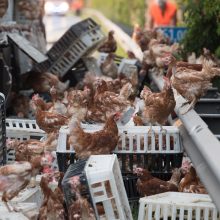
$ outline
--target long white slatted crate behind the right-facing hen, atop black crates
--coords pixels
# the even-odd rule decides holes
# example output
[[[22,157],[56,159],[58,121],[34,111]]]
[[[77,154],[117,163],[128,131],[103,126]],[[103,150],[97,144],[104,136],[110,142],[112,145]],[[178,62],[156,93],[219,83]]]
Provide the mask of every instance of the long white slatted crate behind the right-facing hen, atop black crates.
[[[102,125],[82,124],[86,132],[94,132],[103,128]],[[181,153],[183,152],[179,129],[174,126],[164,126],[164,135],[159,126],[153,126],[153,133],[149,133],[150,126],[125,127],[118,126],[120,141],[115,153]],[[69,129],[61,127],[58,137],[57,152],[74,152],[74,146],[67,147]],[[69,148],[69,149],[68,149]],[[67,150],[68,149],[68,150]]]

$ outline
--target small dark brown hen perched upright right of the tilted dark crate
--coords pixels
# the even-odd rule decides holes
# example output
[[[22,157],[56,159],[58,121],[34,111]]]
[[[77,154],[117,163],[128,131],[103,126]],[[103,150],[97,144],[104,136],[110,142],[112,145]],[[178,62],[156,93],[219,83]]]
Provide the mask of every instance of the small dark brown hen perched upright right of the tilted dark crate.
[[[114,31],[109,31],[108,39],[98,48],[99,52],[115,53],[117,50],[117,42],[114,38]]]

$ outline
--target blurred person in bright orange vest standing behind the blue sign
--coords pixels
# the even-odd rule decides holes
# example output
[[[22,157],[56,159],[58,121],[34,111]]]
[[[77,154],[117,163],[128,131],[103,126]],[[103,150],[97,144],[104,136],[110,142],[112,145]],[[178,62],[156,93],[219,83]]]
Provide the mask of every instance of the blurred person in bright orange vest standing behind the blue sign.
[[[169,0],[155,0],[149,8],[150,28],[176,26],[177,7]]]

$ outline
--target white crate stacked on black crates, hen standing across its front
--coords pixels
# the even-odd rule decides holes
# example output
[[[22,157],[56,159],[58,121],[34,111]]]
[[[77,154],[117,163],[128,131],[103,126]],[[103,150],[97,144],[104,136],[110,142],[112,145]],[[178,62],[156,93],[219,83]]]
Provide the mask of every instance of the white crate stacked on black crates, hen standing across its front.
[[[82,127],[86,132],[94,132],[102,128],[101,125],[85,124]],[[113,153],[119,159],[125,189],[130,202],[139,200],[136,187],[137,176],[133,174],[133,167],[147,168],[153,176],[169,180],[172,169],[180,167],[182,164],[183,148],[179,130],[174,126],[167,126],[164,129],[166,129],[166,134],[160,130],[159,126],[153,127],[152,132],[149,131],[149,126],[119,126],[120,138]],[[71,153],[75,156],[74,146],[67,146],[68,134],[69,129],[67,127],[60,129],[57,152],[63,155]],[[65,166],[67,166],[67,163],[70,163],[70,161],[66,161]],[[64,169],[63,165],[61,169]]]

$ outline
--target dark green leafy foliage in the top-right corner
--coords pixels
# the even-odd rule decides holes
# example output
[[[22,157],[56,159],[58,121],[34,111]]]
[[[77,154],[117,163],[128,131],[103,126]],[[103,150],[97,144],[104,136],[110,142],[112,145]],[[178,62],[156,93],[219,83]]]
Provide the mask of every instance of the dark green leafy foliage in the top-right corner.
[[[220,1],[183,0],[181,4],[188,28],[183,40],[185,51],[198,55],[206,47],[220,57]]]

